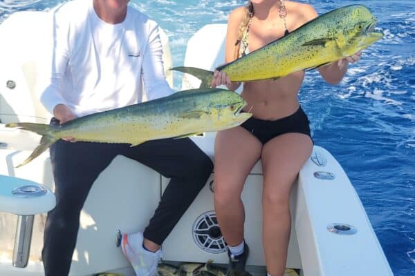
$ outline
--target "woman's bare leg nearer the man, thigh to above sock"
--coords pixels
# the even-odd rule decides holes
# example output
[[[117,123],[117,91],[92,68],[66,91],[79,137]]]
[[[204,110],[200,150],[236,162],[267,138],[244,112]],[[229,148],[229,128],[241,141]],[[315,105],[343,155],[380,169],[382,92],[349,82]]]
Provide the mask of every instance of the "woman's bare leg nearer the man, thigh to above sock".
[[[222,235],[229,246],[243,241],[245,212],[243,184],[261,155],[261,142],[248,130],[237,127],[218,132],[214,144],[214,209]]]

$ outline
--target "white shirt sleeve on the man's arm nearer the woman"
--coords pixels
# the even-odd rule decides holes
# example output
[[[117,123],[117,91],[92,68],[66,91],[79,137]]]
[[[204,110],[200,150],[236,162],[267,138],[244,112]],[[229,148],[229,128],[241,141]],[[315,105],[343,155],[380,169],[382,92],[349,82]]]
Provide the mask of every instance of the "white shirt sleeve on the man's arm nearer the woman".
[[[163,46],[158,32],[158,25],[152,22],[149,27],[149,40],[142,59],[142,80],[147,99],[158,99],[173,94],[165,79],[163,64]]]

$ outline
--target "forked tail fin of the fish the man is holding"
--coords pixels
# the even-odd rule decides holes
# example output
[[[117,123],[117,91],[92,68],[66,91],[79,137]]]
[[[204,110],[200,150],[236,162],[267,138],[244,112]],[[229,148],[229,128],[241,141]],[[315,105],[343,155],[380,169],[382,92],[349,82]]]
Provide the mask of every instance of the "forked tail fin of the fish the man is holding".
[[[32,154],[21,164],[16,166],[19,168],[28,164],[30,161],[38,157],[42,154],[45,150],[47,150],[50,145],[55,143],[59,138],[55,136],[52,128],[46,124],[35,124],[35,123],[10,123],[6,124],[6,128],[19,128],[21,130],[28,130],[31,132],[35,132],[38,135],[42,135],[42,139],[40,139],[40,144],[33,150]]]

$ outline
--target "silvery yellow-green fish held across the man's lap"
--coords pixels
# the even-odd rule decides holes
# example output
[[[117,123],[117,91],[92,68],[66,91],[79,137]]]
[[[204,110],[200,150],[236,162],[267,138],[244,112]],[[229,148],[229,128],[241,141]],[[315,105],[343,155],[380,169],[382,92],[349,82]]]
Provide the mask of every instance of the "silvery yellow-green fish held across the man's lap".
[[[236,92],[223,89],[193,89],[168,97],[138,103],[68,121],[62,126],[10,123],[42,135],[39,146],[19,166],[27,164],[55,141],[73,137],[75,141],[127,143],[136,146],[163,138],[184,138],[239,126],[252,114],[241,112],[244,101]]]

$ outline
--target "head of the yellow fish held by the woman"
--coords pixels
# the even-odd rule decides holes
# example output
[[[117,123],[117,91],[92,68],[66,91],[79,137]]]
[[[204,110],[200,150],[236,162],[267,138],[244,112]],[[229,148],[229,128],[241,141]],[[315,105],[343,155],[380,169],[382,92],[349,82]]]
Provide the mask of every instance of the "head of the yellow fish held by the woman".
[[[375,30],[376,17],[365,6],[347,6],[338,12],[335,41],[343,57],[351,56],[382,39],[383,34]]]

